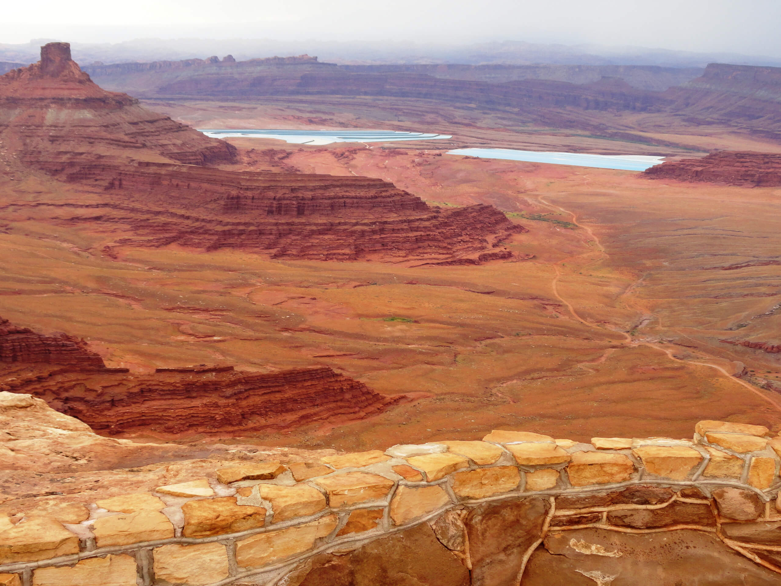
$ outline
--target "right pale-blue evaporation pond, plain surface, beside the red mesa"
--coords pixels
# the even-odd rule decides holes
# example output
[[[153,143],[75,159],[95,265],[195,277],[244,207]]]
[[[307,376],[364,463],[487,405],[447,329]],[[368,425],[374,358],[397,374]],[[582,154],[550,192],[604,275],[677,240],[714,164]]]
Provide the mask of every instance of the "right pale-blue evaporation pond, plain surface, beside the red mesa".
[[[624,171],[644,171],[664,160],[664,157],[648,155],[589,155],[581,152],[515,151],[512,148],[456,148],[447,154]]]

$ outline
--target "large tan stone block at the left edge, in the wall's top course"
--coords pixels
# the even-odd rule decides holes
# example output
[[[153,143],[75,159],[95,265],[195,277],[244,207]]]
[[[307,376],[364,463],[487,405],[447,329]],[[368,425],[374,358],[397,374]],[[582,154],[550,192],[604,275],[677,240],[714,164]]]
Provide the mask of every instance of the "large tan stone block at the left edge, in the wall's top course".
[[[34,517],[0,532],[0,563],[35,562],[79,552],[79,538],[50,517]]]

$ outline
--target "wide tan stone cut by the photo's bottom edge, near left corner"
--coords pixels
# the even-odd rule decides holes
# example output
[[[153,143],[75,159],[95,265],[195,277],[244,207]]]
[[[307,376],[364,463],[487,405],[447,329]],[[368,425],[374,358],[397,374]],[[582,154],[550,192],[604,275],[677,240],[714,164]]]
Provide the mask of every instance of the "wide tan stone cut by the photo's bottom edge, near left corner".
[[[75,566],[38,568],[33,586],[136,586],[136,560],[130,556],[82,559]]]

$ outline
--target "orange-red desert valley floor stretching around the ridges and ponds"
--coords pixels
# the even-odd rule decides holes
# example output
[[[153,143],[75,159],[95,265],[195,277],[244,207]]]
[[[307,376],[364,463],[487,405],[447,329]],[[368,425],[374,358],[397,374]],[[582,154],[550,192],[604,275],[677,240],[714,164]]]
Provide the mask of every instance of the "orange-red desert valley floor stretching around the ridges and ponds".
[[[774,381],[781,388],[774,339],[781,269],[762,262],[781,245],[781,189],[444,154],[490,145],[680,158],[695,149],[781,146],[712,129],[654,137],[683,147],[544,128],[510,133],[488,113],[452,107],[437,118],[420,102],[144,105],[194,127],[452,134],[446,141],[319,147],[230,138],[240,159],[223,168],[376,177],[444,208],[495,205],[528,230],[505,242],[512,262],[316,262],[181,245],[139,248],[122,244],[121,234],[91,233],[65,220],[52,231],[36,217],[40,186],[2,177],[0,188],[16,199],[0,234],[3,316],[34,331],[84,338],[107,366],[131,373],[324,365],[383,395],[405,395],[366,418],[305,421],[250,437],[206,423],[184,437],[154,426],[115,431],[136,441],[355,450],[471,439],[495,427],[584,441],[683,437],[702,419],[781,430],[781,395],[768,390]],[[75,196],[73,188],[58,188],[62,202]],[[113,375],[102,376],[111,388]]]

